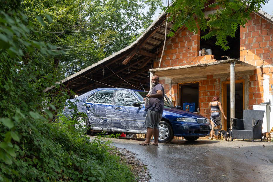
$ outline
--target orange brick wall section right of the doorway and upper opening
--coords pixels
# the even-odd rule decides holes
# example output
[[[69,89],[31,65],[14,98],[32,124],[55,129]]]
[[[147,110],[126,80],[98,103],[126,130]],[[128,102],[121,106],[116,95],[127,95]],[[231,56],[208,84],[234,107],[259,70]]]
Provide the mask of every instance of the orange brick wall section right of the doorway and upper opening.
[[[249,109],[264,102],[264,75],[269,76],[269,85],[273,84],[273,25],[262,17],[251,14],[252,19],[240,28],[240,61],[258,66],[249,82]],[[263,67],[262,69],[259,66]],[[271,91],[271,87],[269,87]]]

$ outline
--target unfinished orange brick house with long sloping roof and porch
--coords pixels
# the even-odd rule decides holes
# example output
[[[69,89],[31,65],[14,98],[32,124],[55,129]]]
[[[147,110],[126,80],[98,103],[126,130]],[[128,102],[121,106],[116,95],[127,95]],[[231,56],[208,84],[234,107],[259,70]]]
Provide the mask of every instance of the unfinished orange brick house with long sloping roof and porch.
[[[214,11],[206,8],[207,13]],[[93,88],[117,86],[149,89],[151,75],[158,75],[165,94],[175,105],[194,103],[201,115],[209,118],[209,102],[219,96],[230,127],[230,118],[242,118],[243,109],[273,102],[273,17],[260,10],[251,14],[245,28],[229,39],[228,51],[215,46],[215,40],[200,40],[197,34],[181,27],[165,40],[165,14],[135,42],[115,54],[62,80],[67,88],[80,94]],[[172,24],[167,24],[170,32]],[[209,50],[199,56],[199,50]],[[160,63],[160,66],[159,66]],[[150,76],[150,78],[149,78]],[[263,132],[273,127],[267,117]],[[272,115],[273,117],[273,115]]]

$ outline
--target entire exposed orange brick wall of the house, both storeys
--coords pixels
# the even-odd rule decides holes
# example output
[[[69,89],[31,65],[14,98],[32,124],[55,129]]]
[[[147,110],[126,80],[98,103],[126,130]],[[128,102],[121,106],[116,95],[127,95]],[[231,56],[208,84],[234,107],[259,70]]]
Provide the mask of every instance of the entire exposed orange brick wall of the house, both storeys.
[[[252,20],[248,21],[245,28],[240,28],[240,61],[255,65],[257,69],[250,76],[249,82],[249,107],[264,102],[264,88],[271,90],[273,85],[273,25],[256,14],[251,14]],[[163,53],[161,68],[183,65],[194,65],[216,61],[214,55],[198,56],[200,49],[200,31],[197,35],[183,28],[175,37],[166,44]],[[159,56],[160,57],[160,56]],[[159,61],[154,62],[157,68]],[[260,67],[263,67],[260,69]],[[266,67],[265,67],[266,66]],[[265,87],[264,75],[269,76],[269,83]],[[164,81],[162,80],[162,83]],[[208,75],[207,79],[200,80],[200,114],[209,117],[209,102],[212,97],[220,94],[220,79]],[[164,85],[165,93],[178,105],[178,85],[167,83]],[[181,104],[180,104],[181,105]]]

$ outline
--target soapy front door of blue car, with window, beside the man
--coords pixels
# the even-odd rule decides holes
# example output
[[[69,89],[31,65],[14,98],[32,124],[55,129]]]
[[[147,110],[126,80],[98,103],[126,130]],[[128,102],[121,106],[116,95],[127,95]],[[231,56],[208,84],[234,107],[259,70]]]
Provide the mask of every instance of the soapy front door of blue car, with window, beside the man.
[[[127,90],[117,90],[112,108],[112,130],[116,132],[145,133],[144,107],[134,107],[134,102],[141,102],[136,95]]]

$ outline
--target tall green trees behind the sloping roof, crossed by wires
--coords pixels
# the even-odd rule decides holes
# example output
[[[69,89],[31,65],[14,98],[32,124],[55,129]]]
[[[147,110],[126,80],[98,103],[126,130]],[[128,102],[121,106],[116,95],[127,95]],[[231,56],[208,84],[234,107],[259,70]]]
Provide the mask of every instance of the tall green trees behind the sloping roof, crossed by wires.
[[[40,55],[44,69],[63,79],[136,40],[158,6],[162,0],[24,0],[21,7],[35,27],[34,40],[64,50],[58,56]]]

